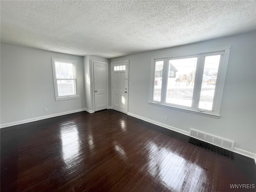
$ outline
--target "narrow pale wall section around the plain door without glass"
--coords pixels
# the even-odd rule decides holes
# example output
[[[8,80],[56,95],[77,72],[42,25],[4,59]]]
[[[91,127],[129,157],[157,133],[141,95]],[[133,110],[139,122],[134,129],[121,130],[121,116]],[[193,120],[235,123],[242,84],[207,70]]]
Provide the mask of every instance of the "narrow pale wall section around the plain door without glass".
[[[92,86],[92,60],[107,62],[108,59],[99,56],[87,55],[84,56],[84,82],[85,82],[85,108],[88,112],[94,112],[93,104],[93,86]],[[110,84],[109,84],[110,89]],[[110,91],[108,91],[109,98],[111,97]]]

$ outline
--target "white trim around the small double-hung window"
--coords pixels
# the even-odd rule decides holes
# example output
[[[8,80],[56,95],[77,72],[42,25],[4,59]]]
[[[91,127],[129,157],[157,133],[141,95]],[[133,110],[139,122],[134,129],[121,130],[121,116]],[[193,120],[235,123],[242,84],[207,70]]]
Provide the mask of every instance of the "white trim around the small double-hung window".
[[[76,95],[58,96],[58,86],[57,86],[57,78],[56,78],[56,71],[55,71],[55,61],[74,63],[74,75],[75,75],[74,80],[75,80],[75,83],[76,83],[76,85],[75,85],[76,86]],[[53,82],[54,82],[55,101],[78,99],[80,97],[79,96],[79,86],[78,86],[78,66],[77,66],[77,60],[52,57],[52,73],[53,73]]]

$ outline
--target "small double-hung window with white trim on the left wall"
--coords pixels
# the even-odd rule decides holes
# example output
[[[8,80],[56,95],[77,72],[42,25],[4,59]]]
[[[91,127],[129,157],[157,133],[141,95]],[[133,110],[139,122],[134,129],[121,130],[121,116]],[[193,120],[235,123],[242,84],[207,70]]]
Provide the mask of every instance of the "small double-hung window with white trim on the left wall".
[[[77,61],[52,57],[55,100],[79,98]]]

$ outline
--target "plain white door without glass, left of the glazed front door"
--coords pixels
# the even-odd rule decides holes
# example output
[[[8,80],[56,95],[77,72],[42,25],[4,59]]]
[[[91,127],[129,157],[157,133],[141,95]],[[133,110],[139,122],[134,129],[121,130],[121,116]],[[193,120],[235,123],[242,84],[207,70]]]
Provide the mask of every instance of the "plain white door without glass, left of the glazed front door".
[[[107,108],[107,63],[92,61],[94,76],[94,108],[95,111]]]

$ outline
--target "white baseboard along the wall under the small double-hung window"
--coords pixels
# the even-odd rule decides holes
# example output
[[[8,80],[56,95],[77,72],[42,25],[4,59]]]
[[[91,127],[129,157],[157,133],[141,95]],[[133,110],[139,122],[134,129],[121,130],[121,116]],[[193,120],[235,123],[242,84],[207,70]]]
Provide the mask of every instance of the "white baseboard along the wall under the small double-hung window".
[[[81,111],[86,111],[86,109],[83,108],[83,109],[72,110],[72,111],[67,111],[67,112],[62,112],[62,113],[57,113],[57,114],[52,114],[52,115],[46,115],[46,116],[41,116],[41,117],[11,122],[11,123],[0,124],[0,128],[10,127],[10,126],[14,126],[14,125],[20,125],[20,124],[24,124],[24,123],[33,122],[33,121],[38,121],[38,120],[48,119],[48,118],[52,118],[52,117],[58,117],[58,116],[62,116],[62,115],[77,113],[77,112],[81,112]]]

